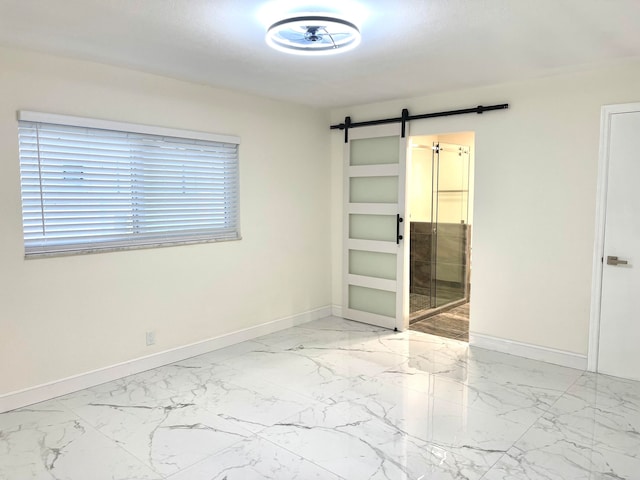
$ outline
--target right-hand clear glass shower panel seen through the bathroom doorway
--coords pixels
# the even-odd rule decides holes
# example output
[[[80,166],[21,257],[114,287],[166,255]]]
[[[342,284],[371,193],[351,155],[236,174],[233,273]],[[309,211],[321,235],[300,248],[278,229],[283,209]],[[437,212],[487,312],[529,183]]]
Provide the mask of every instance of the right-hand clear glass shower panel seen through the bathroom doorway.
[[[435,308],[467,296],[469,147],[434,144],[431,178],[430,292]]]

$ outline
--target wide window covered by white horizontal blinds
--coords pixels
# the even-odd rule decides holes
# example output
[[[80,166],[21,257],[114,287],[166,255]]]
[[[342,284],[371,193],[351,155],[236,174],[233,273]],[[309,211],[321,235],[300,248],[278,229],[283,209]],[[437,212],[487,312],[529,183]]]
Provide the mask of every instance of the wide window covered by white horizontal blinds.
[[[27,256],[240,238],[237,137],[18,115]]]

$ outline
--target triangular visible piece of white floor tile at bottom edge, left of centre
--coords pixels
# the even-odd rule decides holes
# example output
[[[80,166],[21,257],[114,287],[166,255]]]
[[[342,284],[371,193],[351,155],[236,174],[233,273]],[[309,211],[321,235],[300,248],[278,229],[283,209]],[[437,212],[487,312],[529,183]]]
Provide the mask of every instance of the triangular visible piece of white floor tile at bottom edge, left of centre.
[[[168,480],[342,480],[284,448],[252,437],[222,450]]]

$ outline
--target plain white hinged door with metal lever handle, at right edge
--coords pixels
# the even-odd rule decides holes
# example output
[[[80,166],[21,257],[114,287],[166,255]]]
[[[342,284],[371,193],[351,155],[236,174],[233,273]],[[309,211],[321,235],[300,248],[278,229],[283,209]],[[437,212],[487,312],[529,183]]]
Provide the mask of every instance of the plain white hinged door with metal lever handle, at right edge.
[[[614,108],[604,118],[608,165],[597,370],[640,380],[640,104]]]

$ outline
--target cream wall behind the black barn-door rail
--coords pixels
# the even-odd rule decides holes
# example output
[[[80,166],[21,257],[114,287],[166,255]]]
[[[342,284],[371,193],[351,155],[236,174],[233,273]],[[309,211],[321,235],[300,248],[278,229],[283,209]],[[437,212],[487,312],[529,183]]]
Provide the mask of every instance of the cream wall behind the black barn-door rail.
[[[411,122],[475,132],[471,329],[586,354],[600,107],[640,100],[640,62],[332,112],[332,123],[509,103]],[[333,303],[341,304],[342,135],[332,137]]]

